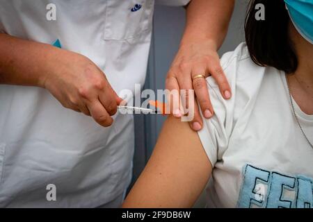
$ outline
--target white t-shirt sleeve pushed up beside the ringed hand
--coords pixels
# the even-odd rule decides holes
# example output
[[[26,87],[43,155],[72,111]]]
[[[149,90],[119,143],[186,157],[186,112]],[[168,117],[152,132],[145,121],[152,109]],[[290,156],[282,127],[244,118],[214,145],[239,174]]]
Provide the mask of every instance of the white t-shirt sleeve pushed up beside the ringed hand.
[[[225,100],[218,89],[213,77],[207,78],[207,86],[211,103],[214,107],[214,117],[203,119],[203,128],[198,132],[202,146],[214,167],[223,158],[227,150],[230,135],[234,128],[234,103],[236,101],[236,70],[238,55],[234,52],[226,53],[221,59],[221,65],[232,88],[232,99]]]

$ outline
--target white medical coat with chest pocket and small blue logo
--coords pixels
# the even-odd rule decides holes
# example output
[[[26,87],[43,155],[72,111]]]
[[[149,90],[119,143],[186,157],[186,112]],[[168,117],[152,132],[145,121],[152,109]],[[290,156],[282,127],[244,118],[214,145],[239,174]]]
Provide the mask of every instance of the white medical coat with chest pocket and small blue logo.
[[[56,20],[47,19],[49,3]],[[120,92],[145,82],[153,10],[153,0],[1,0],[0,31],[59,40],[93,60]],[[97,207],[122,194],[131,180],[134,120],[114,119],[104,128],[46,89],[0,85],[0,207]],[[47,200],[50,184],[56,201]]]

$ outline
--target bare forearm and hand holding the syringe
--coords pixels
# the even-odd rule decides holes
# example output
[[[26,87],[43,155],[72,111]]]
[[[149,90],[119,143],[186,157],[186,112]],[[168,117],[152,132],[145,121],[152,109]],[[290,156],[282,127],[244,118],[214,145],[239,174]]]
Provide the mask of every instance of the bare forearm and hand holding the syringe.
[[[101,126],[122,99],[104,73],[79,53],[0,34],[0,84],[44,87],[65,107],[90,115]]]

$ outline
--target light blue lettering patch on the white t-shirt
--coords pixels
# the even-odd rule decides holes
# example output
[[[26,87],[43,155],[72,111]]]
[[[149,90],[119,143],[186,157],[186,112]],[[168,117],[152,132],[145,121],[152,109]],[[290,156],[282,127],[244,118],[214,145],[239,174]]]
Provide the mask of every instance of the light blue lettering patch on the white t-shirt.
[[[313,179],[247,164],[243,168],[238,207],[313,208]]]

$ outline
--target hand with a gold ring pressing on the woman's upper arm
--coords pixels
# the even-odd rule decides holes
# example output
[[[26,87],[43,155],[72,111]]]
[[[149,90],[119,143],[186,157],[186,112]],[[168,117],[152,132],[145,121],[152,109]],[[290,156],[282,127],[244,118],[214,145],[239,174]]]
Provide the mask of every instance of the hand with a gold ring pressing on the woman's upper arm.
[[[194,89],[195,97],[200,103],[202,114],[207,119],[211,118],[214,114],[214,108],[211,105],[207,88],[207,81],[205,78],[195,78],[193,80],[194,76],[212,76],[216,80],[224,99],[230,99],[231,97],[230,85],[222,67],[220,67],[220,60],[216,51],[217,47],[207,39],[182,43],[166,78],[166,89]],[[188,101],[188,91],[182,96],[185,97],[185,101]],[[179,108],[179,104],[174,104],[179,99],[171,99],[170,101],[172,114],[175,117],[181,117],[184,114],[182,105]],[[182,100],[180,103],[182,103]],[[203,121],[196,101],[194,107],[195,116],[189,125],[193,130],[198,131],[202,129]],[[188,103],[186,104],[186,108],[188,108]]]

